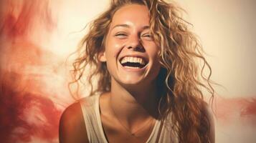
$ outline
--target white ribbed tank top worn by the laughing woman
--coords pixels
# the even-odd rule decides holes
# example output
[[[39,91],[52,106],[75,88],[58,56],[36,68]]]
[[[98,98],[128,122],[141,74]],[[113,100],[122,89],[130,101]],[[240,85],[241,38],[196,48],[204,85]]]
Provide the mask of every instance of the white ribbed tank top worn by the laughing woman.
[[[80,105],[82,115],[85,120],[85,127],[89,142],[108,143],[103,131],[103,124],[100,119],[99,98],[99,94],[91,97],[85,97],[80,99]],[[161,124],[161,121],[156,120],[153,131],[151,132],[150,137],[148,137],[146,143],[178,143],[178,139],[174,132],[172,132],[171,126],[172,125],[170,123],[167,124],[167,122],[163,122],[163,124]]]

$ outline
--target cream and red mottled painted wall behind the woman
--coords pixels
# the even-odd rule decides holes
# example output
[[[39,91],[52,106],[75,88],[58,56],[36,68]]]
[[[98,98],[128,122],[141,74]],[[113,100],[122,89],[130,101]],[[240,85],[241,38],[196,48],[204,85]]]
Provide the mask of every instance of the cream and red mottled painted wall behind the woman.
[[[202,41],[212,80],[223,86],[215,86],[216,142],[256,142],[256,2],[176,2]],[[58,142],[60,115],[75,101],[69,55],[108,4],[0,1],[0,142]]]

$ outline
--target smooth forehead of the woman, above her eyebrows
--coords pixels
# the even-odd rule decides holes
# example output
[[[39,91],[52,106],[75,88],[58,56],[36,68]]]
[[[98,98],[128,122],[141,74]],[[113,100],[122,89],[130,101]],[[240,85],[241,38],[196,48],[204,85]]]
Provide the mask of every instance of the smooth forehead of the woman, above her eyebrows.
[[[111,26],[115,24],[149,24],[149,12],[148,8],[139,4],[128,4],[122,6],[115,12]]]

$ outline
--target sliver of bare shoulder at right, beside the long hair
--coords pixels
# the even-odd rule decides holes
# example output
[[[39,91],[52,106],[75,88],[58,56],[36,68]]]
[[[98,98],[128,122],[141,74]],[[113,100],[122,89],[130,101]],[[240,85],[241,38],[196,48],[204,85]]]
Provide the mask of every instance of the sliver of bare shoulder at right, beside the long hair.
[[[209,139],[211,143],[215,142],[215,125],[214,125],[214,114],[212,112],[212,107],[207,104],[207,102],[203,103],[203,114],[206,115],[207,119],[209,120],[210,131],[209,131]]]

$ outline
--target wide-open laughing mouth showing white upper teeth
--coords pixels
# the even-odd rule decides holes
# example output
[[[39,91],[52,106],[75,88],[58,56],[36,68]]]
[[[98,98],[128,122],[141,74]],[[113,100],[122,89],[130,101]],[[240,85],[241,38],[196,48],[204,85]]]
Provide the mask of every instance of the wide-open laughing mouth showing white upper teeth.
[[[148,64],[148,61],[141,57],[125,56],[120,59],[120,64],[131,69],[141,69]]]

